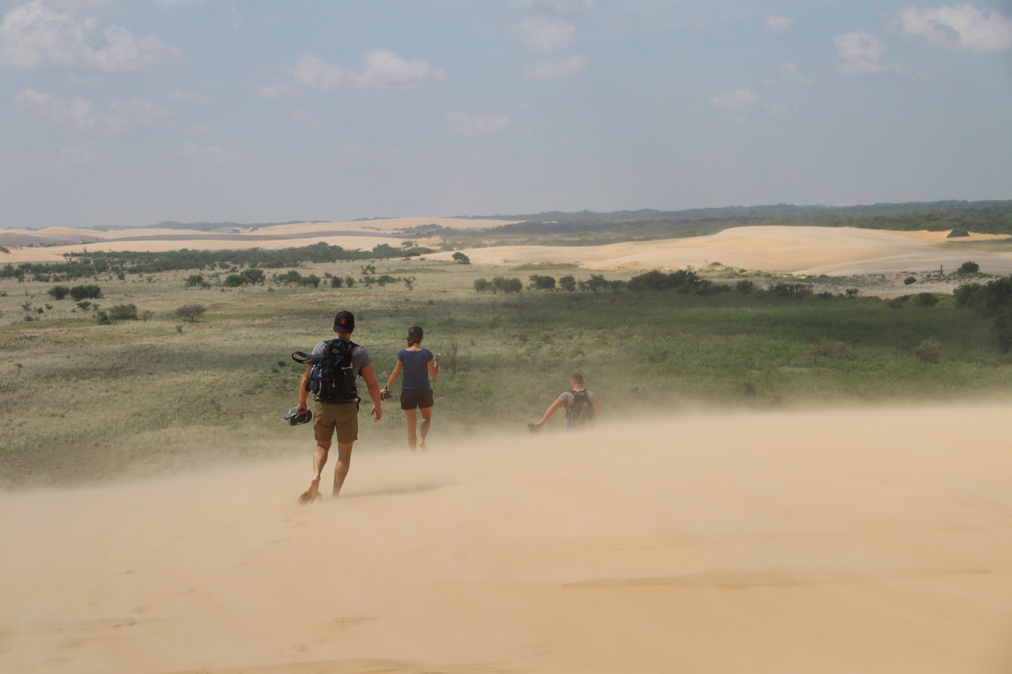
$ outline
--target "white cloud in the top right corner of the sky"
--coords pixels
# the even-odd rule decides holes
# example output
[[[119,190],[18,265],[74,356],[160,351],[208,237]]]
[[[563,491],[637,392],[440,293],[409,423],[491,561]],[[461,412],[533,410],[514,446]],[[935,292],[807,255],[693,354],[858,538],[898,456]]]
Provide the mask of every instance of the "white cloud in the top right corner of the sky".
[[[972,52],[1012,50],[1012,21],[998,12],[986,16],[971,4],[952,7],[900,10],[903,29],[935,45],[958,47]]]

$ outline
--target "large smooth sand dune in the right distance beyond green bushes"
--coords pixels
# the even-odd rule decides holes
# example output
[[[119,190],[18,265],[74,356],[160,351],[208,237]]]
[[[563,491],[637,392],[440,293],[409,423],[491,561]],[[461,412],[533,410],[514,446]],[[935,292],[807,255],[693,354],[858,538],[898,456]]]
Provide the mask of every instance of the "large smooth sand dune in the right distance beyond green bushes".
[[[515,265],[579,263],[591,269],[734,267],[809,275],[850,275],[957,268],[965,251],[932,248],[945,232],[891,232],[828,227],[736,227],[706,237],[609,244],[607,246],[504,246],[468,251],[473,262]],[[994,238],[974,235],[972,239]],[[432,256],[448,259],[450,253]],[[1012,253],[974,252],[983,271],[1012,273]]]

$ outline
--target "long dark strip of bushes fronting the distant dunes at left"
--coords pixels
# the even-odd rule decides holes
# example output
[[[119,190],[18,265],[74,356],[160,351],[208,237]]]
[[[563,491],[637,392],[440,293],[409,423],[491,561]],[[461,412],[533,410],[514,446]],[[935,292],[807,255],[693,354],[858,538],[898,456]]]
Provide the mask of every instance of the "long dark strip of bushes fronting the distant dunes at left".
[[[39,281],[73,280],[100,273],[151,274],[190,269],[231,269],[232,267],[293,267],[303,262],[381,260],[415,257],[434,253],[431,248],[395,248],[378,244],[371,251],[345,250],[320,242],[299,248],[245,248],[233,250],[168,250],[157,253],[112,251],[65,253],[66,262],[22,262],[5,264],[0,278],[33,278]]]

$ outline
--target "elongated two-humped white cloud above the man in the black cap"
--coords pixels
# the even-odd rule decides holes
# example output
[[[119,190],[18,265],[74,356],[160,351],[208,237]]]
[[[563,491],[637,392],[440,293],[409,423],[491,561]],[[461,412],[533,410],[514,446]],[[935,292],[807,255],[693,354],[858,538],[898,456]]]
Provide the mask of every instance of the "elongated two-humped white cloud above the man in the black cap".
[[[338,88],[419,87],[442,80],[446,73],[421,59],[407,61],[390,50],[373,50],[362,57],[360,71],[346,70],[315,54],[299,57],[294,66],[270,74],[272,82],[257,88],[264,98],[301,96],[308,91],[327,92]]]

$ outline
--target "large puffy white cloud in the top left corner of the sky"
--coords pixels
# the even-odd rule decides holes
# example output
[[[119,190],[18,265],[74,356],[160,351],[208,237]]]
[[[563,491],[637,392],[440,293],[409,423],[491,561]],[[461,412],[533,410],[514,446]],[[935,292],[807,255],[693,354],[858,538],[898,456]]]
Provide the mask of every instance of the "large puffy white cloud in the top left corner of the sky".
[[[14,7],[0,23],[0,63],[21,70],[56,66],[130,73],[178,54],[154,33],[137,36],[119,25],[99,30],[97,19],[51,11],[40,0]]]

